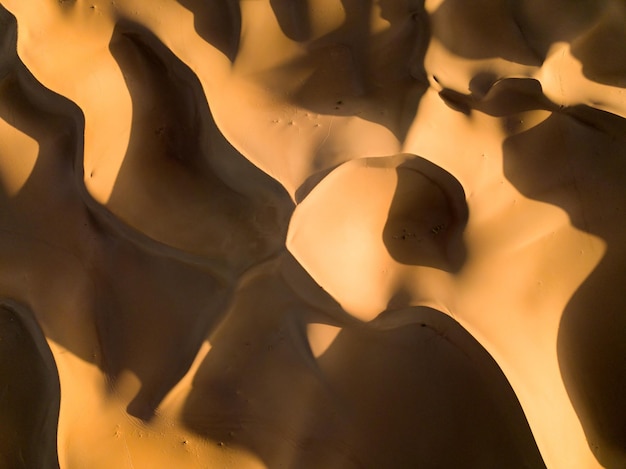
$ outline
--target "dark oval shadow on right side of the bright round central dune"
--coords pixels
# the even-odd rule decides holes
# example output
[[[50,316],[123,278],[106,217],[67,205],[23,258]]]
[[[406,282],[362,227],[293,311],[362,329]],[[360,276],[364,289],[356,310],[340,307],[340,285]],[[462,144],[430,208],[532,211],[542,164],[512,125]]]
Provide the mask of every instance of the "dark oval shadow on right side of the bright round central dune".
[[[383,230],[396,261],[457,272],[465,261],[465,192],[443,168],[407,155],[396,167],[398,184]]]

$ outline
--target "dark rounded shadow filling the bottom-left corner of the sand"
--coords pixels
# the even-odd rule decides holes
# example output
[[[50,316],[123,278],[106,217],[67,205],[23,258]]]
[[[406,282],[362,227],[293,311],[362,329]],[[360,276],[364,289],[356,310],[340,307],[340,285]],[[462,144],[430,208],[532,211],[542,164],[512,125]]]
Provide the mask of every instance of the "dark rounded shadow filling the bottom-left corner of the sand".
[[[36,319],[0,300],[1,467],[58,469],[59,405],[57,369]]]

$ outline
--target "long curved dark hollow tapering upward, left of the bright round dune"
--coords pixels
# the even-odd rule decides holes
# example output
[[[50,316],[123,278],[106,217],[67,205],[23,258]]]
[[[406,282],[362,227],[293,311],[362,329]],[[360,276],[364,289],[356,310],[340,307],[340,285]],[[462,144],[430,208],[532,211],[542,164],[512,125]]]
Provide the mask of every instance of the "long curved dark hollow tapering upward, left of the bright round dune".
[[[107,208],[179,251],[224,258],[230,276],[280,250],[293,204],[221,135],[195,74],[148,30],[116,25],[110,50],[133,103]]]

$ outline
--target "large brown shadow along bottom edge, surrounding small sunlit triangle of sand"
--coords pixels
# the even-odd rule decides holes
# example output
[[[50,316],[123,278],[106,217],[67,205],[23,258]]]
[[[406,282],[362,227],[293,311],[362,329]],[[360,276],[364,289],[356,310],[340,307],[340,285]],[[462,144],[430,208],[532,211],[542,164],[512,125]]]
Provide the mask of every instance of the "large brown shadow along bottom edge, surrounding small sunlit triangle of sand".
[[[344,321],[314,291],[295,295],[269,265],[243,282],[194,378],[189,429],[271,469],[545,467],[504,375],[455,321],[428,308]],[[318,357],[311,323],[341,328]]]

